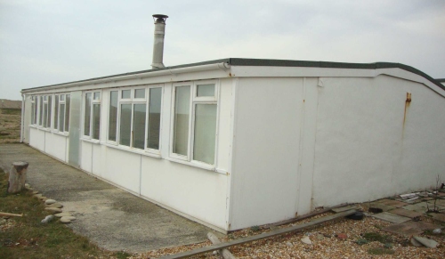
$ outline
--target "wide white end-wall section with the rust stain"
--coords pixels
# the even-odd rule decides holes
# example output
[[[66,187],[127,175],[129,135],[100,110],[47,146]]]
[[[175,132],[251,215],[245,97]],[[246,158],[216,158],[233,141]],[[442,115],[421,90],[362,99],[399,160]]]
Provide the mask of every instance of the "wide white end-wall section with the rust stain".
[[[445,99],[440,94],[388,76],[322,80],[316,206],[425,190],[438,174],[445,179]]]

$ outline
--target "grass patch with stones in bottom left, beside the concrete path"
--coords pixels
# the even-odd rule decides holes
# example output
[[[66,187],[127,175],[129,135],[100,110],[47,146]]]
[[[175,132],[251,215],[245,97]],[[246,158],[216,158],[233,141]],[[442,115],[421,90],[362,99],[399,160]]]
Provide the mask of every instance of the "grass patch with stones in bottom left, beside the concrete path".
[[[0,258],[88,258],[116,256],[123,252],[109,252],[77,235],[66,225],[53,220],[40,223],[48,214],[44,203],[32,197],[29,190],[8,194],[8,174],[0,168],[0,211],[22,214],[4,220],[0,217]],[[7,227],[9,226],[9,227]]]

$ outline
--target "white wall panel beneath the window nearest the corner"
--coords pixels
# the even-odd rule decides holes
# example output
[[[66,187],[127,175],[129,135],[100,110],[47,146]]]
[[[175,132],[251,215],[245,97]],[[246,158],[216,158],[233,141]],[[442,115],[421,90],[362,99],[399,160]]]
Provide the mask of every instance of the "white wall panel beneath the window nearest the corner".
[[[226,230],[226,174],[142,156],[141,194]]]

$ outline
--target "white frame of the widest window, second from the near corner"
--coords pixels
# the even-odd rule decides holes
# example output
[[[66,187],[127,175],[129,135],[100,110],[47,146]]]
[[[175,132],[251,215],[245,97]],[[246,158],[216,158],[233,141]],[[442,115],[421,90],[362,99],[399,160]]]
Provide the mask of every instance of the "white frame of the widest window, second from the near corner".
[[[149,116],[150,116],[150,89],[152,88],[160,88],[162,95],[161,95],[161,109],[160,109],[160,117],[159,117],[159,136],[158,136],[158,142],[159,142],[159,148],[158,150],[150,149],[148,148],[148,126],[149,126]],[[136,90],[143,89],[145,91],[144,98],[135,98],[135,92]],[[130,98],[123,98],[123,91],[130,90]],[[107,138],[106,143],[109,146],[114,146],[122,150],[131,150],[135,152],[142,152],[146,154],[153,154],[157,155],[157,157],[161,153],[162,149],[162,142],[161,142],[161,136],[162,136],[162,113],[163,113],[163,99],[164,99],[164,85],[163,84],[156,84],[156,85],[136,85],[136,86],[123,86],[118,87],[114,89],[109,89],[108,99],[109,99],[109,106],[110,106],[110,98],[111,98],[111,92],[117,92],[117,125],[116,125],[116,141],[110,141],[109,140],[109,123],[110,123],[110,116],[109,116],[109,107],[107,112]],[[131,104],[131,121],[130,121],[130,146],[126,146],[123,144],[120,144],[120,132],[121,132],[121,109],[122,104]],[[134,148],[134,134],[132,134],[132,131],[134,130],[134,104],[145,104],[145,127],[144,127],[144,143],[143,143],[143,149]]]

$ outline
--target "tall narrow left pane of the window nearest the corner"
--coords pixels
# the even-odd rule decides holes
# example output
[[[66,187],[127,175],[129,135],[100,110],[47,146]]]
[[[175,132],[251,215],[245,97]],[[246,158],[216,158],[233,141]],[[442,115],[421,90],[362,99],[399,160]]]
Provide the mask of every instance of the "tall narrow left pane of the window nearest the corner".
[[[179,86],[175,88],[175,91],[173,152],[187,156],[189,142],[190,86]]]

